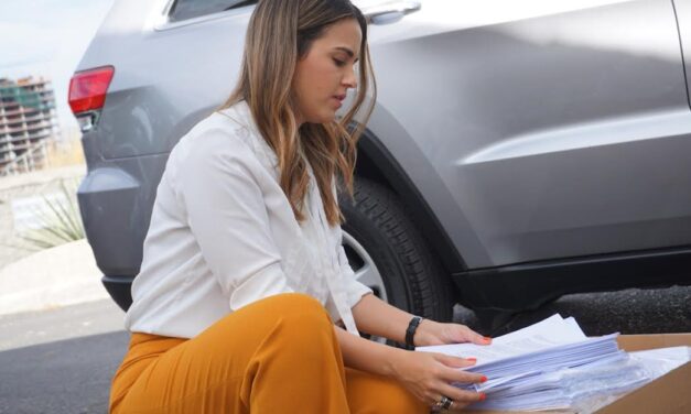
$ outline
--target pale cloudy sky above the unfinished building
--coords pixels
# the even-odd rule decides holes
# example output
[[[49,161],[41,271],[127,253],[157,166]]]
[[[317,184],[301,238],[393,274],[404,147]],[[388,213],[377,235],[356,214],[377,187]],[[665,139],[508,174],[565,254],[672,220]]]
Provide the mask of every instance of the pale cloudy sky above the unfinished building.
[[[61,127],[76,128],[69,78],[114,0],[0,0],[0,78],[53,83]]]

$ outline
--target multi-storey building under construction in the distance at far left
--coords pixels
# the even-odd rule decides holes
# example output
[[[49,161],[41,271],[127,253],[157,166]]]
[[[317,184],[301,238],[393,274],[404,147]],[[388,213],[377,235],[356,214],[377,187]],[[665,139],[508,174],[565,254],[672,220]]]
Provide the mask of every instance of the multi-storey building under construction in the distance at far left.
[[[0,176],[47,165],[47,144],[60,133],[50,80],[0,79]]]

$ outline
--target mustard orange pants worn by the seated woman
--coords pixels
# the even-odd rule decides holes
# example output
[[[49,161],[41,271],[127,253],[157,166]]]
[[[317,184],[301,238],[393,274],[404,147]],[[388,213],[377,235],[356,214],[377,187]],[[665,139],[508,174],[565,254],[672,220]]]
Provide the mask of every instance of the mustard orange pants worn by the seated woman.
[[[110,413],[429,413],[398,382],[344,368],[324,307],[258,301],[192,339],[132,334]]]

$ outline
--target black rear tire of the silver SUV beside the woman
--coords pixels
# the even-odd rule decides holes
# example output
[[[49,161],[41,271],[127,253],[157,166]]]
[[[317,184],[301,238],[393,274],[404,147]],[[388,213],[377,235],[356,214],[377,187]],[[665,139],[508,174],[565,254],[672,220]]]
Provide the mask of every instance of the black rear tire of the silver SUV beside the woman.
[[[451,320],[455,287],[399,197],[364,178],[354,189],[353,199],[341,197],[341,208],[344,248],[356,277],[398,308]]]

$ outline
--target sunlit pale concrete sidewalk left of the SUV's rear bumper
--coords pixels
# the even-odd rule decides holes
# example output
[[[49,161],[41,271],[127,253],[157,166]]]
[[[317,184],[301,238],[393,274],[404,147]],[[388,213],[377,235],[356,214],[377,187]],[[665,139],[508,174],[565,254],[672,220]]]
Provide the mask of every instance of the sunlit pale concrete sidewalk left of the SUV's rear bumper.
[[[0,315],[108,298],[86,240],[42,250],[0,270]]]

